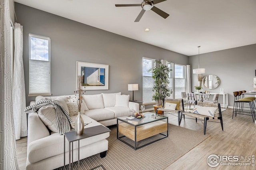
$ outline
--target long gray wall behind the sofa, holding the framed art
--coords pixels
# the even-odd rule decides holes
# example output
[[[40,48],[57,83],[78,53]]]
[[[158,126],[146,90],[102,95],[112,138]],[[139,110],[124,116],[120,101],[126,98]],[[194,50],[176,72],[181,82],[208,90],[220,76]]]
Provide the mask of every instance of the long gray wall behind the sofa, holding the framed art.
[[[122,92],[138,83],[134,99],[142,100],[142,57],[165,59],[186,65],[188,56],[142,43],[54,14],[15,3],[17,21],[23,26],[23,61],[28,96],[28,34],[51,38],[51,93],[70,95],[76,86],[76,61],[109,65],[109,90],[86,94]],[[26,97],[26,103],[34,97]]]

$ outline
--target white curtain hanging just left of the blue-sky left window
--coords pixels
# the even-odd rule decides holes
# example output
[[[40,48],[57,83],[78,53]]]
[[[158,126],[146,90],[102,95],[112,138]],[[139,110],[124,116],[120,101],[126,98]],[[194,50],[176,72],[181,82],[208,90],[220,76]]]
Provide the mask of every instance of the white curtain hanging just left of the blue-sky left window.
[[[26,107],[25,81],[23,69],[23,31],[22,26],[14,24],[14,69],[13,69],[13,119],[16,140],[28,135],[27,117],[24,113]]]

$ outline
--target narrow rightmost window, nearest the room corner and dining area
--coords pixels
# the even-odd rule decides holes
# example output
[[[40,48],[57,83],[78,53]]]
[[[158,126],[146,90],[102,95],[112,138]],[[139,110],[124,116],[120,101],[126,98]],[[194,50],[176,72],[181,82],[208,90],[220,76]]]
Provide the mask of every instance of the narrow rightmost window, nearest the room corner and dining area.
[[[180,99],[181,92],[186,91],[186,67],[184,65],[174,64],[174,96]]]

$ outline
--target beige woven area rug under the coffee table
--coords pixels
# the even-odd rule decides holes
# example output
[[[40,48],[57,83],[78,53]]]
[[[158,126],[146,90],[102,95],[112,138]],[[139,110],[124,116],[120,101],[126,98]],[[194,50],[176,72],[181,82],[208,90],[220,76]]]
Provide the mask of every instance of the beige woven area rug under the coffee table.
[[[110,130],[106,157],[100,158],[100,154],[96,154],[80,160],[80,169],[90,170],[102,165],[100,168],[106,170],[163,170],[210,136],[169,124],[167,138],[134,150],[116,138],[116,127],[110,127]],[[74,169],[77,165],[74,162]]]

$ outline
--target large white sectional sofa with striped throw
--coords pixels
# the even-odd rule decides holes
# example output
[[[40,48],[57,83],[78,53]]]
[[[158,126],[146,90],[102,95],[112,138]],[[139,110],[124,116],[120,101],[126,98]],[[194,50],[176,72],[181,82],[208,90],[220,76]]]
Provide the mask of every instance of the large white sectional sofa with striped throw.
[[[56,96],[56,97],[36,97],[35,104],[42,99],[55,100],[68,110],[70,99],[75,95]],[[121,93],[102,93],[98,95],[83,95],[83,103],[86,104],[81,111],[84,122],[89,123],[85,128],[97,125],[116,125],[116,118],[128,116],[129,107],[133,107],[139,112],[139,104],[130,102],[129,96]],[[56,132],[56,112],[55,109],[44,107],[38,113],[28,114],[28,153],[27,170],[52,170],[64,164],[64,136]],[[71,114],[71,112],[70,112]],[[70,116],[75,121],[76,115]],[[86,131],[86,129],[85,129]],[[108,150],[109,132],[86,138],[80,141],[80,159],[87,158],[94,154],[104,153]],[[74,142],[74,161],[78,160],[78,145]],[[66,140],[66,164],[68,164],[68,141]],[[104,157],[104,154],[101,154]]]

